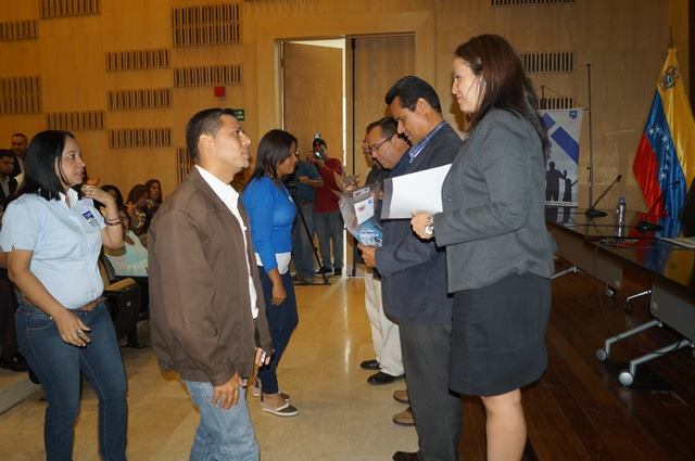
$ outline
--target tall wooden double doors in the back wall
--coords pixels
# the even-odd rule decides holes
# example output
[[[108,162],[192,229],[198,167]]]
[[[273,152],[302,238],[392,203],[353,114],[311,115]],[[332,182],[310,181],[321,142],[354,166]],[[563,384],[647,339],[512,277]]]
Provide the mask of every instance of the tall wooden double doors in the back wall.
[[[415,74],[415,35],[358,36],[280,41],[280,101],[283,129],[296,136],[302,155],[319,132],[345,174],[367,177],[362,154],[368,123],[386,113],[384,95],[399,78]],[[346,273],[357,255],[343,239]]]

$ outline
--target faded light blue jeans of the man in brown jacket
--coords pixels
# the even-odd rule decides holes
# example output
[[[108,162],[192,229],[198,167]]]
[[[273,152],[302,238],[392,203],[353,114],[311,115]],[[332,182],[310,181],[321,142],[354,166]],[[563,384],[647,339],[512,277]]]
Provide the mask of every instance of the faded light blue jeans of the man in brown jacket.
[[[237,405],[225,410],[212,404],[211,383],[184,383],[200,411],[189,461],[257,461],[258,443],[249,418],[243,388],[239,389]]]

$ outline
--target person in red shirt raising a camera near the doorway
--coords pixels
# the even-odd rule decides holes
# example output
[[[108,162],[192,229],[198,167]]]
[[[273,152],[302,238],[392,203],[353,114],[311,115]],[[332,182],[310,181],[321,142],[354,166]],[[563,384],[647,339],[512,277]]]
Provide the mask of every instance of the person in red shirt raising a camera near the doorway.
[[[333,191],[340,188],[336,183],[336,174],[343,174],[342,163],[328,155],[326,141],[316,135],[313,142],[313,155],[309,162],[316,166],[324,184],[316,189],[314,199],[314,226],[321,251],[321,267],[318,273],[341,276],[343,271],[343,219],[340,215],[338,196]],[[331,245],[332,243],[332,245]],[[330,252],[333,251],[331,264]]]

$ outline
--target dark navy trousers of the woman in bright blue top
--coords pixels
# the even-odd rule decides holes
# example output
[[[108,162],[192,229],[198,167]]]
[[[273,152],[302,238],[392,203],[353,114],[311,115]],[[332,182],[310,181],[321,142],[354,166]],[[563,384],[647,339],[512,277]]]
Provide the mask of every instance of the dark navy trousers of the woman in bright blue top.
[[[282,353],[290,342],[290,336],[299,323],[299,315],[296,313],[296,298],[294,297],[294,286],[292,286],[292,277],[290,272],[286,272],[282,276],[282,284],[287,292],[287,297],[282,304],[274,306],[270,304],[273,299],[273,282],[265,269],[258,266],[258,273],[261,274],[261,284],[263,285],[263,297],[265,299],[265,316],[268,320],[268,328],[270,330],[270,338],[273,340],[273,357],[270,357],[270,363],[262,367],[258,370],[258,379],[263,386],[263,393],[275,394],[279,390],[277,369]]]

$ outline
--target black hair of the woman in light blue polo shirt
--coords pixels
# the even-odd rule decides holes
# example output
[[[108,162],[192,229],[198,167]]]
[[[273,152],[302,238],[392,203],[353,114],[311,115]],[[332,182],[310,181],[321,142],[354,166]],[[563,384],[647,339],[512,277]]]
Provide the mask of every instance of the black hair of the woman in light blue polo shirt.
[[[68,137],[75,139],[68,131],[47,130],[31,139],[26,151],[24,182],[17,196],[37,194],[46,200],[60,200],[60,194],[65,192],[63,183],[67,183],[60,165]]]

